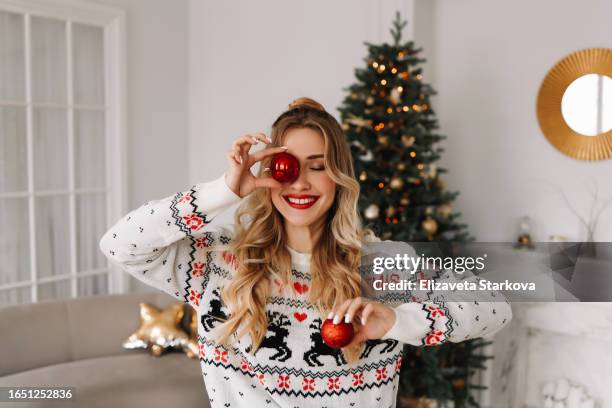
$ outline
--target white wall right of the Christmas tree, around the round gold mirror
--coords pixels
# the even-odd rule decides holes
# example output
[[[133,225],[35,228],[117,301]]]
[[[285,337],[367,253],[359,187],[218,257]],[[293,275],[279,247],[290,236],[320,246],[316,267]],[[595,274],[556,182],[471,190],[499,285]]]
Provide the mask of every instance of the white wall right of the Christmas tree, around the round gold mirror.
[[[612,196],[612,160],[585,162],[557,151],[540,131],[536,97],[560,59],[587,47],[610,47],[612,3],[604,0],[435,0],[416,2],[416,41],[425,49],[444,143],[442,164],[456,207],[479,240],[517,236],[529,215],[535,238],[550,234],[584,239],[577,218],[553,189],[565,190],[582,214],[590,209],[588,181]],[[612,206],[595,239],[612,241]]]

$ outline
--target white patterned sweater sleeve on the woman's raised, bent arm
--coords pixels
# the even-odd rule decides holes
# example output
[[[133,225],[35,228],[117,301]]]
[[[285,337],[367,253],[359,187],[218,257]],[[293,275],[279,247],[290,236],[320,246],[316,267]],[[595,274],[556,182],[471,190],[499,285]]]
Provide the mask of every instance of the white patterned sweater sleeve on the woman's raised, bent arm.
[[[198,249],[231,234],[208,224],[238,201],[224,174],[131,211],[104,234],[100,249],[138,280],[197,307],[210,262]]]

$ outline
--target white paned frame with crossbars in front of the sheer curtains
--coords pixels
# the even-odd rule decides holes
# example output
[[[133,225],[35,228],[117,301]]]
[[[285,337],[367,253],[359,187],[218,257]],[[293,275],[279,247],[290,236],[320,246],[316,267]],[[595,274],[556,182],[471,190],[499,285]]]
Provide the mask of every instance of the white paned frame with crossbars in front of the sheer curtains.
[[[78,278],[106,274],[108,277],[108,293],[126,293],[128,280],[125,273],[108,260],[105,268],[93,271],[77,271],[77,242],[76,242],[76,193],[103,192],[106,194],[106,222],[119,219],[128,208],[127,190],[127,39],[126,39],[126,12],[117,7],[99,4],[83,3],[75,0],[0,0],[0,11],[21,14],[24,17],[25,42],[25,102],[0,100],[0,106],[18,106],[26,111],[26,137],[28,154],[28,188],[25,192],[0,193],[0,198],[27,198],[29,220],[29,246],[30,246],[30,280],[3,284],[0,290],[30,287],[31,302],[37,302],[38,285],[48,282],[70,282],[71,297],[78,296]],[[31,18],[54,18],[65,22],[67,40],[67,74],[68,74],[68,100],[61,105],[67,112],[68,118],[68,154],[69,186],[66,190],[69,198],[69,231],[70,231],[70,270],[68,273],[45,278],[38,277],[36,259],[36,226],[34,201],[40,195],[34,190],[33,180],[33,111],[35,106],[32,100],[32,70],[31,70]],[[89,108],[77,106],[73,103],[73,76],[72,76],[72,27],[73,24],[87,24],[103,29],[104,33],[104,105],[93,107],[105,113],[104,136],[106,147],[106,186],[96,189],[76,189],[74,169],[74,117],[76,108]],[[51,106],[52,107],[52,106]],[[108,226],[108,225],[107,225]],[[107,227],[106,226],[106,227]],[[96,237],[95,242],[101,237]],[[99,250],[96,245],[96,250]]]

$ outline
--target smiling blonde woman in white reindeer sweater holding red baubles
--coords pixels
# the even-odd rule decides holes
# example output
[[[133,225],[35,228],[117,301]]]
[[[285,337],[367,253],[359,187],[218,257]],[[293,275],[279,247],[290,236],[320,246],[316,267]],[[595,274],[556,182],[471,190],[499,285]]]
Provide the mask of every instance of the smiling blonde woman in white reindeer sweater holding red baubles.
[[[299,161],[293,182],[266,173],[282,151]],[[511,319],[501,294],[397,307],[362,297],[361,257],[380,240],[362,228],[342,128],[312,99],[289,105],[270,138],[236,139],[227,162],[223,176],[144,204],[100,242],[126,272],[197,311],[213,407],[395,407],[401,343],[460,342]],[[233,226],[208,225],[240,201]],[[326,318],[353,324],[348,346],[323,342]]]

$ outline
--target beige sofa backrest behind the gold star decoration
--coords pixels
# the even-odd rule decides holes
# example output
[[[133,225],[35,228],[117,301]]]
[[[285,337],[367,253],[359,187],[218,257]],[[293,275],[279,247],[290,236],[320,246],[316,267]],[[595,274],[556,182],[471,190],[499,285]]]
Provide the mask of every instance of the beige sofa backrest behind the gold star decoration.
[[[138,303],[176,303],[162,293],[86,296],[0,308],[0,376],[86,358],[121,355],[139,325]]]

